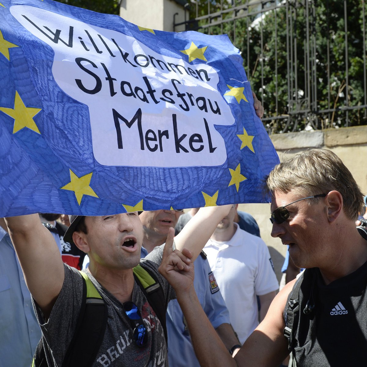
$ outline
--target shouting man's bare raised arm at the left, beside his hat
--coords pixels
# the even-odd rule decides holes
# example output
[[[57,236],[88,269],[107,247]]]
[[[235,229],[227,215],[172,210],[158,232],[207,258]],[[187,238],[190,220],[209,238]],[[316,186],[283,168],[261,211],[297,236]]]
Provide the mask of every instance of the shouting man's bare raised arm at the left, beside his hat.
[[[27,287],[47,319],[65,276],[57,244],[38,214],[9,217],[5,221]]]

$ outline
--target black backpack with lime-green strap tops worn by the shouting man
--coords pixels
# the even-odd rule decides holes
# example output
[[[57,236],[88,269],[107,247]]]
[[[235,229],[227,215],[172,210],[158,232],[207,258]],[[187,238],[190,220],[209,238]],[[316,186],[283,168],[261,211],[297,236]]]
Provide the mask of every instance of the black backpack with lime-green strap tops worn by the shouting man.
[[[164,330],[167,342],[166,310],[167,303],[163,289],[155,275],[138,265],[134,269],[134,278],[145,294],[150,306],[156,313]],[[86,273],[83,278],[83,299],[74,336],[65,354],[63,367],[88,367],[97,356],[107,325],[107,306]],[[42,339],[34,353],[31,367],[47,367]]]

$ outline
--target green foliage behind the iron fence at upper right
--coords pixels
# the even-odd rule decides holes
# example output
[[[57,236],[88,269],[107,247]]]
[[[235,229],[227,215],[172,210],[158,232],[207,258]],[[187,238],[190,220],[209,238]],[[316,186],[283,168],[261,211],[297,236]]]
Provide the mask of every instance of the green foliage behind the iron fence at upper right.
[[[263,99],[268,130],[367,124],[366,108],[357,108],[366,98],[364,1],[347,1],[347,34],[341,0],[264,2],[262,17],[259,3],[241,8],[248,3],[255,1],[201,0],[192,6],[192,17],[201,17],[201,32],[227,33],[239,48],[252,89]],[[353,109],[346,113],[346,106]],[[282,115],[290,118],[275,118]]]

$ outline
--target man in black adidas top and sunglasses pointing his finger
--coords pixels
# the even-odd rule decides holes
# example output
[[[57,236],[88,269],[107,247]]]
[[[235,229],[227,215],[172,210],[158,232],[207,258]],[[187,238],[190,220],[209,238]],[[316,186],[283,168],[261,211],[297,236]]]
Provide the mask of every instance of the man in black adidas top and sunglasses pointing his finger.
[[[277,367],[289,346],[298,367],[364,366],[367,241],[355,225],[363,207],[355,179],[333,152],[310,149],[277,165],[265,190],[272,236],[306,270],[277,294],[234,358],[200,310],[193,272],[177,272],[170,246],[164,250],[159,270],[176,290],[201,365]]]

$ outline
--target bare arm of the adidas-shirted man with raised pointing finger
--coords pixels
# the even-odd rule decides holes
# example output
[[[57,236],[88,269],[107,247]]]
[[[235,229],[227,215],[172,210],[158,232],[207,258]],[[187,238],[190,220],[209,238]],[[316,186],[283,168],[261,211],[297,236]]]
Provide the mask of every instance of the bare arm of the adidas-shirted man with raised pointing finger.
[[[277,294],[265,319],[232,358],[201,308],[192,279],[188,273],[175,270],[170,252],[172,248],[165,248],[159,271],[176,291],[200,366],[279,366],[288,355],[287,339],[283,336],[283,310],[294,282]]]

